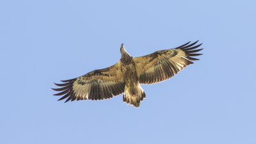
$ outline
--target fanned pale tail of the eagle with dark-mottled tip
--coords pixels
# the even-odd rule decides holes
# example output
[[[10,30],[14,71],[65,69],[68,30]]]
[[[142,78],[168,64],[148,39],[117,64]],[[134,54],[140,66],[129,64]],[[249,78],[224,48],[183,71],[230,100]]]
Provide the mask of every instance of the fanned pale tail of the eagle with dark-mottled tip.
[[[129,92],[127,86],[125,86],[123,101],[127,104],[131,104],[135,108],[139,108],[140,101],[142,101],[144,98],[146,98],[146,94],[141,88],[140,84],[138,84],[135,92],[133,93]]]

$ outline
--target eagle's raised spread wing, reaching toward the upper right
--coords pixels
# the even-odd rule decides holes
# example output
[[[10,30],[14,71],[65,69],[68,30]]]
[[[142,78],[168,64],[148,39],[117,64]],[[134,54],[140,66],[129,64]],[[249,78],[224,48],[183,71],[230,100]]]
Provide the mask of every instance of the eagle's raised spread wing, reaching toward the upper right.
[[[134,57],[137,75],[141,84],[152,84],[170,79],[187,65],[192,64],[191,60],[199,60],[192,56],[199,56],[196,49],[200,45],[190,42],[173,49],[156,51],[147,56]]]

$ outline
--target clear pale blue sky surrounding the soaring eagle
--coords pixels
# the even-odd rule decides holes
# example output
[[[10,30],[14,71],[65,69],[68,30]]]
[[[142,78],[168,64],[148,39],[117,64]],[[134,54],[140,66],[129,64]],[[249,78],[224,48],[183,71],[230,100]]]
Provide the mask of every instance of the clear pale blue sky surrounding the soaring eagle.
[[[255,1],[1,1],[0,143],[256,143]],[[63,103],[54,82],[200,40],[164,83]]]

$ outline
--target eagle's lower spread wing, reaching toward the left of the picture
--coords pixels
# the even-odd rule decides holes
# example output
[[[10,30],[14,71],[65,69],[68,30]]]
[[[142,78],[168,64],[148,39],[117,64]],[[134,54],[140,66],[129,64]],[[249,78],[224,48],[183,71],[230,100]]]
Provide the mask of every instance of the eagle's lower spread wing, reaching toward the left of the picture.
[[[59,100],[68,98],[65,102],[109,99],[113,95],[124,93],[125,87],[120,71],[120,61],[111,67],[93,70],[84,76],[62,82],[62,84],[56,84],[61,88],[52,88],[52,90],[61,91],[54,95],[62,95],[63,97]]]

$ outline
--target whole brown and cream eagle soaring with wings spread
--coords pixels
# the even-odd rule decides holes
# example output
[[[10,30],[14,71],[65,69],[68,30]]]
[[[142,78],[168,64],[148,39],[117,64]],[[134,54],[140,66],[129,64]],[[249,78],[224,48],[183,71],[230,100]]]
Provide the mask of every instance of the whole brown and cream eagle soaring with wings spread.
[[[111,67],[93,70],[83,76],[61,81],[56,84],[60,88],[54,95],[62,96],[59,100],[65,102],[74,100],[103,100],[116,95],[123,95],[123,101],[135,108],[140,107],[140,101],[146,98],[140,84],[154,84],[170,79],[192,61],[199,60],[196,49],[202,44],[186,43],[173,49],[156,51],[140,57],[132,57],[125,51],[124,44],[120,47],[121,58]]]

